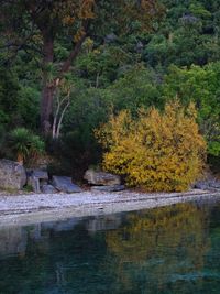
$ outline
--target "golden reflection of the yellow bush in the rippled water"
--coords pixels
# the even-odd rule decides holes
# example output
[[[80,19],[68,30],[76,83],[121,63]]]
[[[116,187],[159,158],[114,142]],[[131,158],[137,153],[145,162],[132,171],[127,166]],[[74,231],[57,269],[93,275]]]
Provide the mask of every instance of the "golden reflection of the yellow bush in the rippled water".
[[[140,280],[160,288],[170,277],[201,270],[209,249],[207,215],[191,204],[130,214],[125,227],[106,236],[116,286],[132,291]]]

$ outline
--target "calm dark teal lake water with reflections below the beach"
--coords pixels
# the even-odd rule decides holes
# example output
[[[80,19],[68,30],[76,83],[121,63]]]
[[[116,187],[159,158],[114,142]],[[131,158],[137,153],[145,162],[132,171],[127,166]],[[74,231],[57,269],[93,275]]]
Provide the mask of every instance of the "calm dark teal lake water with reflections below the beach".
[[[220,204],[0,228],[0,293],[220,293]]]

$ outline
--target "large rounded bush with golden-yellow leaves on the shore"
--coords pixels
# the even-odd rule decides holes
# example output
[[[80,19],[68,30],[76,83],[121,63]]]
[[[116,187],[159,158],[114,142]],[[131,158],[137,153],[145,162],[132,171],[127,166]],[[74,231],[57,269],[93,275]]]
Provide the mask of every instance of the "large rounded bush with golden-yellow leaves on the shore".
[[[129,186],[180,192],[201,173],[206,143],[194,105],[185,109],[175,101],[164,113],[141,109],[138,120],[123,110],[96,134],[107,149],[105,170],[125,175]]]

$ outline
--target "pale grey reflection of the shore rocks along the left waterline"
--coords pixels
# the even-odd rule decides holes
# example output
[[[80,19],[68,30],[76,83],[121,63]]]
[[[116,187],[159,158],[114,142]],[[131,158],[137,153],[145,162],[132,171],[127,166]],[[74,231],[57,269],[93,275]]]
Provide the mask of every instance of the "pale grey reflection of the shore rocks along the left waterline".
[[[92,233],[101,230],[117,229],[121,225],[120,215],[96,216],[88,219],[73,218],[65,221],[50,221],[31,226],[12,226],[0,228],[0,259],[10,255],[25,255],[30,247],[47,251],[52,236],[72,231],[78,224]],[[29,243],[29,248],[28,248]]]

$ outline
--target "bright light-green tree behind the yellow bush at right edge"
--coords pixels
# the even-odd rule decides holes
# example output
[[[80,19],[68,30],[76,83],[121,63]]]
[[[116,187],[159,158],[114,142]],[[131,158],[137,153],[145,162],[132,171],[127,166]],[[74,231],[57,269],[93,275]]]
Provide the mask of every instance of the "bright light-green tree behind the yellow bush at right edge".
[[[187,105],[194,101],[198,109],[198,124],[208,142],[208,153],[220,155],[220,63],[190,68],[172,66],[165,76],[165,100],[178,96]]]

